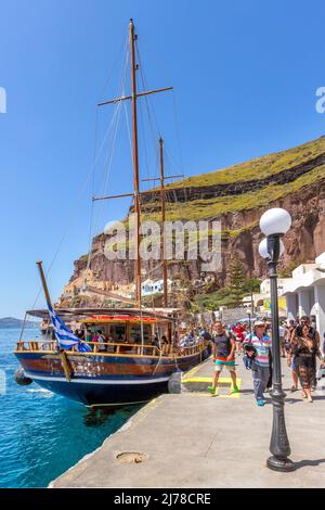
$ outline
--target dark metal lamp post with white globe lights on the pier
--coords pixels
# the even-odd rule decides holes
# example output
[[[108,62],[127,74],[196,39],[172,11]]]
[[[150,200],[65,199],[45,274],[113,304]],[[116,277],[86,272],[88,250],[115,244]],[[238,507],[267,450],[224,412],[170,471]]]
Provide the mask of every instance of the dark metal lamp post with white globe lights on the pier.
[[[269,209],[260,219],[260,229],[266,238],[260,242],[259,253],[268,260],[269,265],[272,314],[273,390],[270,393],[273,405],[273,424],[270,442],[272,457],[269,457],[266,464],[268,468],[282,472],[294,471],[296,469],[294,462],[288,458],[291,449],[284,416],[285,393],[282,387],[281,373],[276,273],[278,258],[284,253],[284,244],[281,237],[289,230],[290,225],[291,217],[289,213],[282,208]]]

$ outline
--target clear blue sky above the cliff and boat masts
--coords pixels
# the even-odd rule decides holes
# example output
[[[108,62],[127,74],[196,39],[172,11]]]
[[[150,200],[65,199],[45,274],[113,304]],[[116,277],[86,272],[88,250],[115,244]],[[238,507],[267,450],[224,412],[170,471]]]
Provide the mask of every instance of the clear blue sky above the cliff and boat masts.
[[[142,73],[150,89],[174,87],[151,97],[150,116],[141,100],[142,177],[158,174],[158,135],[167,173],[191,176],[325,133],[322,0],[0,0],[0,317],[24,317],[36,260],[48,270],[55,255],[57,298],[90,232],[126,214],[127,201],[96,203],[90,222],[93,193],[132,187],[129,106],[96,106],[121,91],[130,17],[139,89]]]

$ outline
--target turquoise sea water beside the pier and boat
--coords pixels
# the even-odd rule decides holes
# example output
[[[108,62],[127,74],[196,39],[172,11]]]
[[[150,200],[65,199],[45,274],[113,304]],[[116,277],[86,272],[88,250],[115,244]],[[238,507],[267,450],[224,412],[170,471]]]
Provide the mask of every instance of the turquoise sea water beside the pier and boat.
[[[38,330],[26,330],[24,340],[36,335]],[[12,354],[18,339],[18,330],[0,330],[0,487],[47,487],[139,407],[90,413],[35,383],[18,386],[13,379],[18,362]]]

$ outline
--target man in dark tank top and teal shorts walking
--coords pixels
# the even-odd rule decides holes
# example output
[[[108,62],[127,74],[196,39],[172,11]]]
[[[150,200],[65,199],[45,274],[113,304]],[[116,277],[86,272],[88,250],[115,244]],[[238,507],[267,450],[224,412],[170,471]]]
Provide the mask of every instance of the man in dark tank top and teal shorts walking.
[[[219,395],[218,381],[223,367],[226,367],[232,378],[232,387],[230,393],[238,393],[235,371],[235,348],[236,343],[232,333],[225,331],[221,320],[217,320],[212,331],[212,355],[214,361],[214,377],[212,386],[209,391],[213,397]]]

